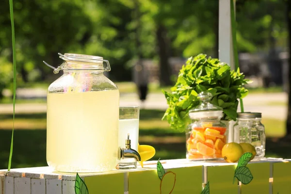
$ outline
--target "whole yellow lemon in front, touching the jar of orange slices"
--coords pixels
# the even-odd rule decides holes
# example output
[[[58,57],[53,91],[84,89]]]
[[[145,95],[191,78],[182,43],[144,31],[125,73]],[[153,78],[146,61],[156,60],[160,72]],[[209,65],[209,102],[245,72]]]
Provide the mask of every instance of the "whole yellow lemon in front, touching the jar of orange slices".
[[[242,154],[242,146],[235,142],[224,145],[221,150],[221,155],[226,162],[238,162]]]

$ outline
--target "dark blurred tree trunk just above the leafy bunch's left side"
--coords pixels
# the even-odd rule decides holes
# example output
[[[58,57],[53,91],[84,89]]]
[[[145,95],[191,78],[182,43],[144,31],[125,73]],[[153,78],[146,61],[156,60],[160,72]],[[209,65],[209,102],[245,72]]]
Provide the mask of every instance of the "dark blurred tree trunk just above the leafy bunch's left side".
[[[160,57],[160,84],[162,86],[171,85],[171,68],[169,65],[169,53],[167,45],[167,30],[166,28],[159,23],[157,29],[157,41],[159,48],[159,57]]]

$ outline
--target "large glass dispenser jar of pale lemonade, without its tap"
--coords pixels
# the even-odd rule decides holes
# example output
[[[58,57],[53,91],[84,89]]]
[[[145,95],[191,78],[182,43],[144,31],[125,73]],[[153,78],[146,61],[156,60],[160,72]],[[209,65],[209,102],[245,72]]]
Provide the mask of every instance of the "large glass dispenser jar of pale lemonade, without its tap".
[[[61,172],[104,172],[118,159],[119,90],[102,57],[60,54],[64,74],[49,85],[47,162]],[[104,68],[103,63],[107,66]]]

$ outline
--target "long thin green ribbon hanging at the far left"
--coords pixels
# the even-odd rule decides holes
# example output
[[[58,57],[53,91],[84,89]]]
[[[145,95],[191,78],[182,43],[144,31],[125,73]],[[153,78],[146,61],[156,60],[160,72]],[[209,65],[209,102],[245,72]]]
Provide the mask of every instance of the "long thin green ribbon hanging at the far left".
[[[13,16],[13,0],[9,0],[11,32],[12,32],[12,55],[13,55],[13,126],[11,135],[11,146],[8,161],[8,171],[11,168],[11,160],[13,153],[13,136],[14,136],[14,121],[15,121],[15,94],[16,94],[16,50],[15,50],[15,30],[14,30],[14,16]]]

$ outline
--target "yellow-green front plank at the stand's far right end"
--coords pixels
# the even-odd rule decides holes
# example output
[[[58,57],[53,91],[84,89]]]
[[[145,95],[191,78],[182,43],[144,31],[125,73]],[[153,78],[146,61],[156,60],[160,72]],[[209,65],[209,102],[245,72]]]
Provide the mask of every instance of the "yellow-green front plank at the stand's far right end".
[[[291,162],[273,164],[273,194],[290,194]]]

